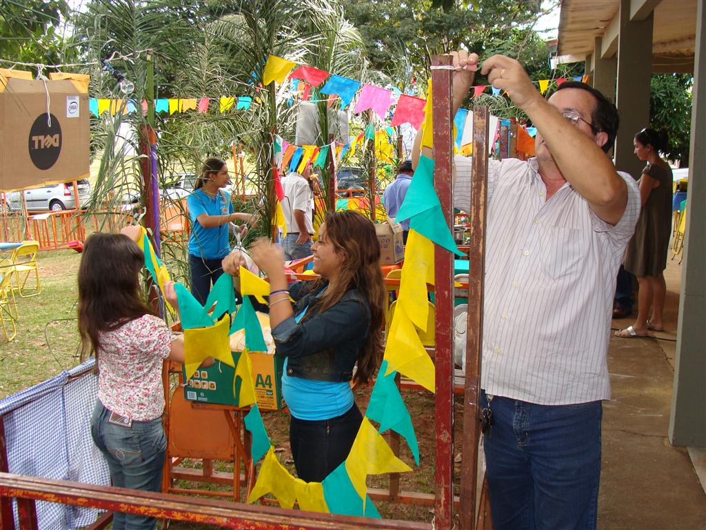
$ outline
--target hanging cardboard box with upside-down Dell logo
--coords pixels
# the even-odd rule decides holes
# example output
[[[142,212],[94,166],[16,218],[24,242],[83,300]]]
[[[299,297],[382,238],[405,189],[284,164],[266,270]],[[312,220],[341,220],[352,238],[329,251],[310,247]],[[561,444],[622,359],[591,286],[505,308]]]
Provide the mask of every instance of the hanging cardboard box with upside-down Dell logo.
[[[44,81],[32,79],[30,72],[0,69],[0,190],[4,192],[89,176],[88,76],[50,77],[45,88]]]

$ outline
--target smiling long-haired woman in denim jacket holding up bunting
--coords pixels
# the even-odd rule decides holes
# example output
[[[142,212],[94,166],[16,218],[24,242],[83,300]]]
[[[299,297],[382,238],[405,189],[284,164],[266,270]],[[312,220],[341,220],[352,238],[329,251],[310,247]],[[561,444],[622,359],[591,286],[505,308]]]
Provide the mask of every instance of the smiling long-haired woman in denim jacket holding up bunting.
[[[278,247],[258,240],[251,257],[270,278],[270,325],[276,355],[285,357],[282,394],[297,476],[321,482],[348,457],[361,424],[349,382],[368,382],[382,360],[385,284],[375,227],[360,213],[328,216],[312,250],[320,278],[289,288]],[[233,252],[223,268],[237,276],[241,264]]]

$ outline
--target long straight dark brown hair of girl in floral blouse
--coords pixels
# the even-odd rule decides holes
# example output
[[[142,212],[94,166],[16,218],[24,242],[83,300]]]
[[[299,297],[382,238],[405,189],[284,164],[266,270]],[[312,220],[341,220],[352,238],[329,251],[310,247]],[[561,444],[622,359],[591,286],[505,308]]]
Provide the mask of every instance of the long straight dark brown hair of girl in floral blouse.
[[[140,289],[145,257],[123,234],[95,232],[83,246],[78,266],[78,332],[83,351],[98,358],[100,333],[154,314]]]

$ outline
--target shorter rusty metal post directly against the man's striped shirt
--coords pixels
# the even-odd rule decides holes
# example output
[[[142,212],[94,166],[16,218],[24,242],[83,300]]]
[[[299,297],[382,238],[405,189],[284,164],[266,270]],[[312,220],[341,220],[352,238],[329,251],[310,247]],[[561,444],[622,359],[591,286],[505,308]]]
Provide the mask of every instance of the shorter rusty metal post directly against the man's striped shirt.
[[[473,107],[473,166],[471,179],[471,246],[468,270],[463,459],[460,522],[475,527],[479,430],[481,346],[483,340],[483,274],[485,271],[486,181],[488,176],[488,107]],[[507,135],[505,134],[505,138]]]

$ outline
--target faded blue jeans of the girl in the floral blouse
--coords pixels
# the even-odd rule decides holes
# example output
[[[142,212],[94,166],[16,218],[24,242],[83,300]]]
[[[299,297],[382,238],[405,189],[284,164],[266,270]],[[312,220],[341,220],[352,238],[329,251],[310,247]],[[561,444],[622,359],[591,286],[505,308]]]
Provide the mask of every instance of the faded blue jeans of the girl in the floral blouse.
[[[116,488],[162,491],[162,470],[167,451],[162,418],[133,421],[131,427],[108,422],[110,411],[96,401],[91,418],[91,436],[100,449],[110,470]],[[154,517],[113,514],[113,530],[152,530],[157,524]]]

